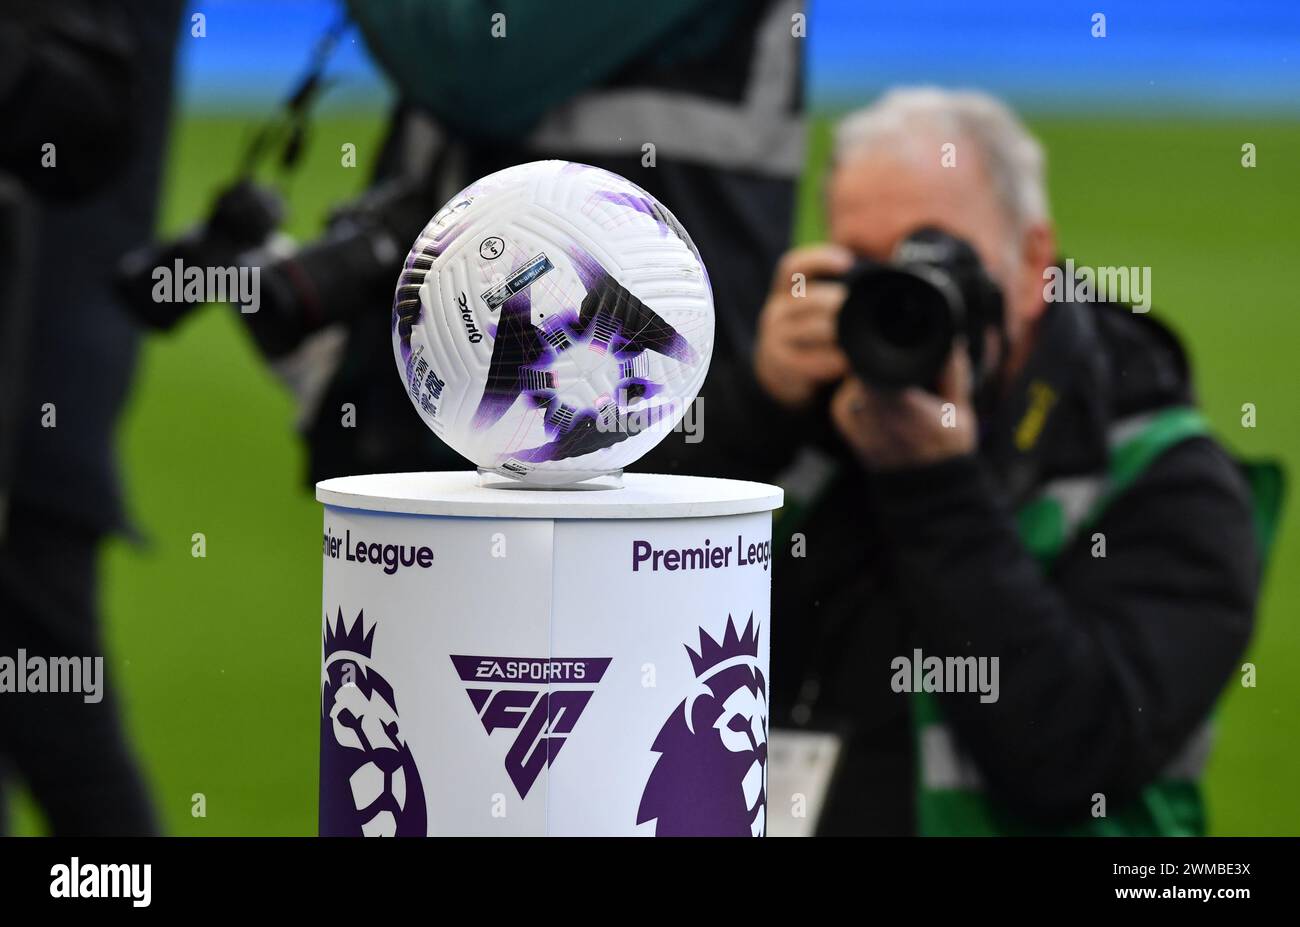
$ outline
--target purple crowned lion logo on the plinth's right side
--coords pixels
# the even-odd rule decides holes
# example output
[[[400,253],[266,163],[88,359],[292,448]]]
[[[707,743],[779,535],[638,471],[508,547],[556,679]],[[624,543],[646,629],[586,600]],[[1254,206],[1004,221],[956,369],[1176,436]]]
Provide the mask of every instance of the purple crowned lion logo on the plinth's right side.
[[[637,810],[655,835],[754,836],[767,832],[767,681],[758,662],[758,627],[731,615],[720,641],[699,629],[686,647],[696,690],[655,737],[659,754]]]

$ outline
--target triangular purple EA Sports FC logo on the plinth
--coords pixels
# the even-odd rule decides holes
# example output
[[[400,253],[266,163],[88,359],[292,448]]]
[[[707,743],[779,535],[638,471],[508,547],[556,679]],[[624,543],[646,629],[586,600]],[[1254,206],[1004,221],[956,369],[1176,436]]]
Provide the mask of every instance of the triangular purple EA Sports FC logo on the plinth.
[[[488,735],[517,732],[506,751],[506,774],[526,798],[573,733],[610,658],[450,657],[462,681],[469,683],[465,693]]]

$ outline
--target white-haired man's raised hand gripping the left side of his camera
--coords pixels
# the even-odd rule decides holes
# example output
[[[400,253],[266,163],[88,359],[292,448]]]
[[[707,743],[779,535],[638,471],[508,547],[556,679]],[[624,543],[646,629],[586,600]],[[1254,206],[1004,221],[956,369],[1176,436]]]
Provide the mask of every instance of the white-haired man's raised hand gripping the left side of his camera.
[[[853,265],[853,254],[837,244],[794,248],[781,257],[758,320],[754,376],[785,408],[803,408],[818,389],[849,372],[836,339],[844,304],[842,283],[826,280]]]

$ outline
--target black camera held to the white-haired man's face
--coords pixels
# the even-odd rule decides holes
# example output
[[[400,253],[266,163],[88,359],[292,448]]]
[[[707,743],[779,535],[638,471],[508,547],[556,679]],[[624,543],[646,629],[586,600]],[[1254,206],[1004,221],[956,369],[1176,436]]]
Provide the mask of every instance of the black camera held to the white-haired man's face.
[[[987,341],[1004,333],[1002,291],[968,242],[935,228],[905,238],[889,263],[863,259],[844,277],[840,346],[853,372],[881,389],[933,389],[965,339],[975,384],[988,376]]]

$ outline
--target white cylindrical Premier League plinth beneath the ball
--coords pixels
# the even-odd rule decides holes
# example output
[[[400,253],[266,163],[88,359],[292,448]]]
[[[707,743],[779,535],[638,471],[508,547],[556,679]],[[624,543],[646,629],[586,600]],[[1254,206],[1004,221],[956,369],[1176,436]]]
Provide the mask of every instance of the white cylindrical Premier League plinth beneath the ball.
[[[322,835],[764,832],[780,489],[394,473],[316,498]]]

